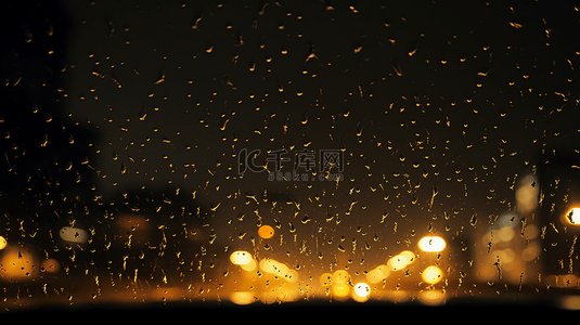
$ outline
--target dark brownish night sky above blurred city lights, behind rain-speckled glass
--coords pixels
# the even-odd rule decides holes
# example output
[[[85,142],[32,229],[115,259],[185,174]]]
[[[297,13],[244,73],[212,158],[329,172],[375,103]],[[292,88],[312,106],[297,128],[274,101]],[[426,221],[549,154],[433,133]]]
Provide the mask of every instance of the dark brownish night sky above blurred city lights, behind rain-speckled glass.
[[[466,180],[474,172],[492,177],[504,191],[504,179],[520,173],[525,161],[538,160],[543,146],[571,152],[562,140],[573,142],[578,134],[571,93],[578,25],[570,4],[66,6],[74,15],[63,75],[68,96],[62,103],[72,121],[98,136],[100,153],[92,159],[102,172],[103,195],[128,184],[156,187],[168,181],[211,199],[237,190],[300,186],[267,183],[265,174],[243,181],[224,177],[236,177],[228,167],[235,167],[232,154],[244,147],[298,151],[309,142],[314,151],[346,150],[346,178],[356,181],[344,183],[345,191],[368,187],[369,181],[405,182],[394,172],[407,172],[415,183],[426,171],[430,176],[422,182],[430,192],[438,180],[444,188],[441,177],[454,177],[454,170],[463,170]],[[315,57],[308,60],[311,53]],[[413,148],[417,140],[424,150]],[[495,165],[491,157],[497,168],[482,172],[480,165]],[[372,178],[365,177],[365,165]],[[441,176],[434,177],[435,170]],[[211,185],[203,191],[206,181],[221,185],[222,193]],[[456,191],[451,183],[449,191]],[[478,185],[472,186],[479,194]]]

